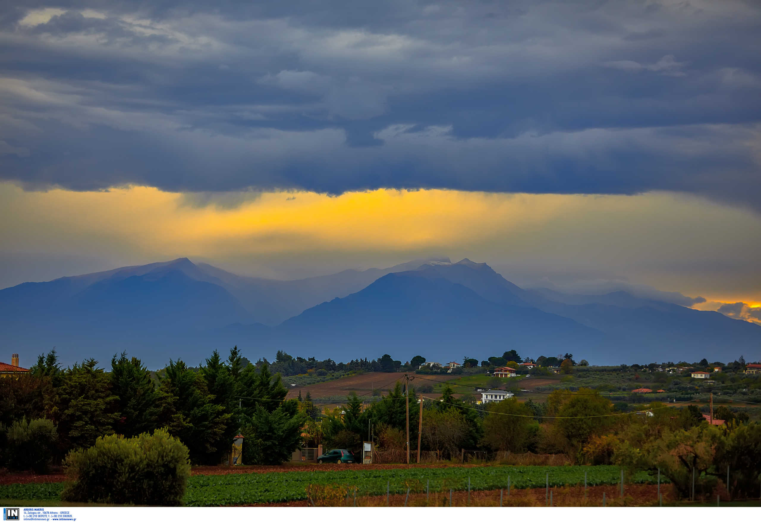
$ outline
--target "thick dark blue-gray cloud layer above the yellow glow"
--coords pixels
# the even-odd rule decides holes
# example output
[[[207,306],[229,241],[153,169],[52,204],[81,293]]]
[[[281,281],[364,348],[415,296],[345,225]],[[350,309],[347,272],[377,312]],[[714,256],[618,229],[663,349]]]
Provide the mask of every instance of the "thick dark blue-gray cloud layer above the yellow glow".
[[[759,210],[759,33],[739,0],[3,2],[0,176]]]

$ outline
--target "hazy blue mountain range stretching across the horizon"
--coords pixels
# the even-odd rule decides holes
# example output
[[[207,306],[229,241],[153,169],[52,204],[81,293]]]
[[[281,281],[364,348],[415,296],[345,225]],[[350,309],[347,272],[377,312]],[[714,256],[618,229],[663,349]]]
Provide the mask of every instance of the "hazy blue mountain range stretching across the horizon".
[[[520,288],[470,259],[277,281],[180,258],[0,290],[0,342],[27,365],[53,346],[65,364],[126,350],[161,368],[232,345],[253,360],[284,349],[446,362],[516,349],[621,364],[758,358],[761,326],[625,291]]]

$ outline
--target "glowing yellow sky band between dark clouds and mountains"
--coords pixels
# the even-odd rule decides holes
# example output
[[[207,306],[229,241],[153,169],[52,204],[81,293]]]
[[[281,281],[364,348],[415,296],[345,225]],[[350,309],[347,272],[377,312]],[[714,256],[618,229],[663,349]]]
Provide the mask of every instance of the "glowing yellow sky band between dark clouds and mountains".
[[[485,261],[508,279],[600,272],[761,306],[761,218],[673,193],[375,190],[332,197],[142,186],[25,192],[0,183],[0,220],[3,253],[90,256],[103,259],[102,269],[187,256],[290,279],[442,255]],[[21,282],[13,277],[0,286]]]

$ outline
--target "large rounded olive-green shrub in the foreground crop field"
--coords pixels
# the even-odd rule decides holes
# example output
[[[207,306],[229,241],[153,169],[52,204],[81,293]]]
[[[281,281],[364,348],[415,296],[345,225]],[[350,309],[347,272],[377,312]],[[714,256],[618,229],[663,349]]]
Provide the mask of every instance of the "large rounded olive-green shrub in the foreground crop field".
[[[107,435],[66,457],[61,499],[104,504],[180,505],[190,476],[188,448],[165,430]]]

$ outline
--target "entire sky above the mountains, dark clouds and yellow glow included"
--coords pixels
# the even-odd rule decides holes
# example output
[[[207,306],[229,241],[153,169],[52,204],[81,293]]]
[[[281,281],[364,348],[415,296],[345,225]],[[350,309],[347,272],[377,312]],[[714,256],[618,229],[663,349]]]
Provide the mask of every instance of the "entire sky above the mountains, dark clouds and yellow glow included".
[[[0,2],[0,287],[425,256],[761,322],[761,4]]]

